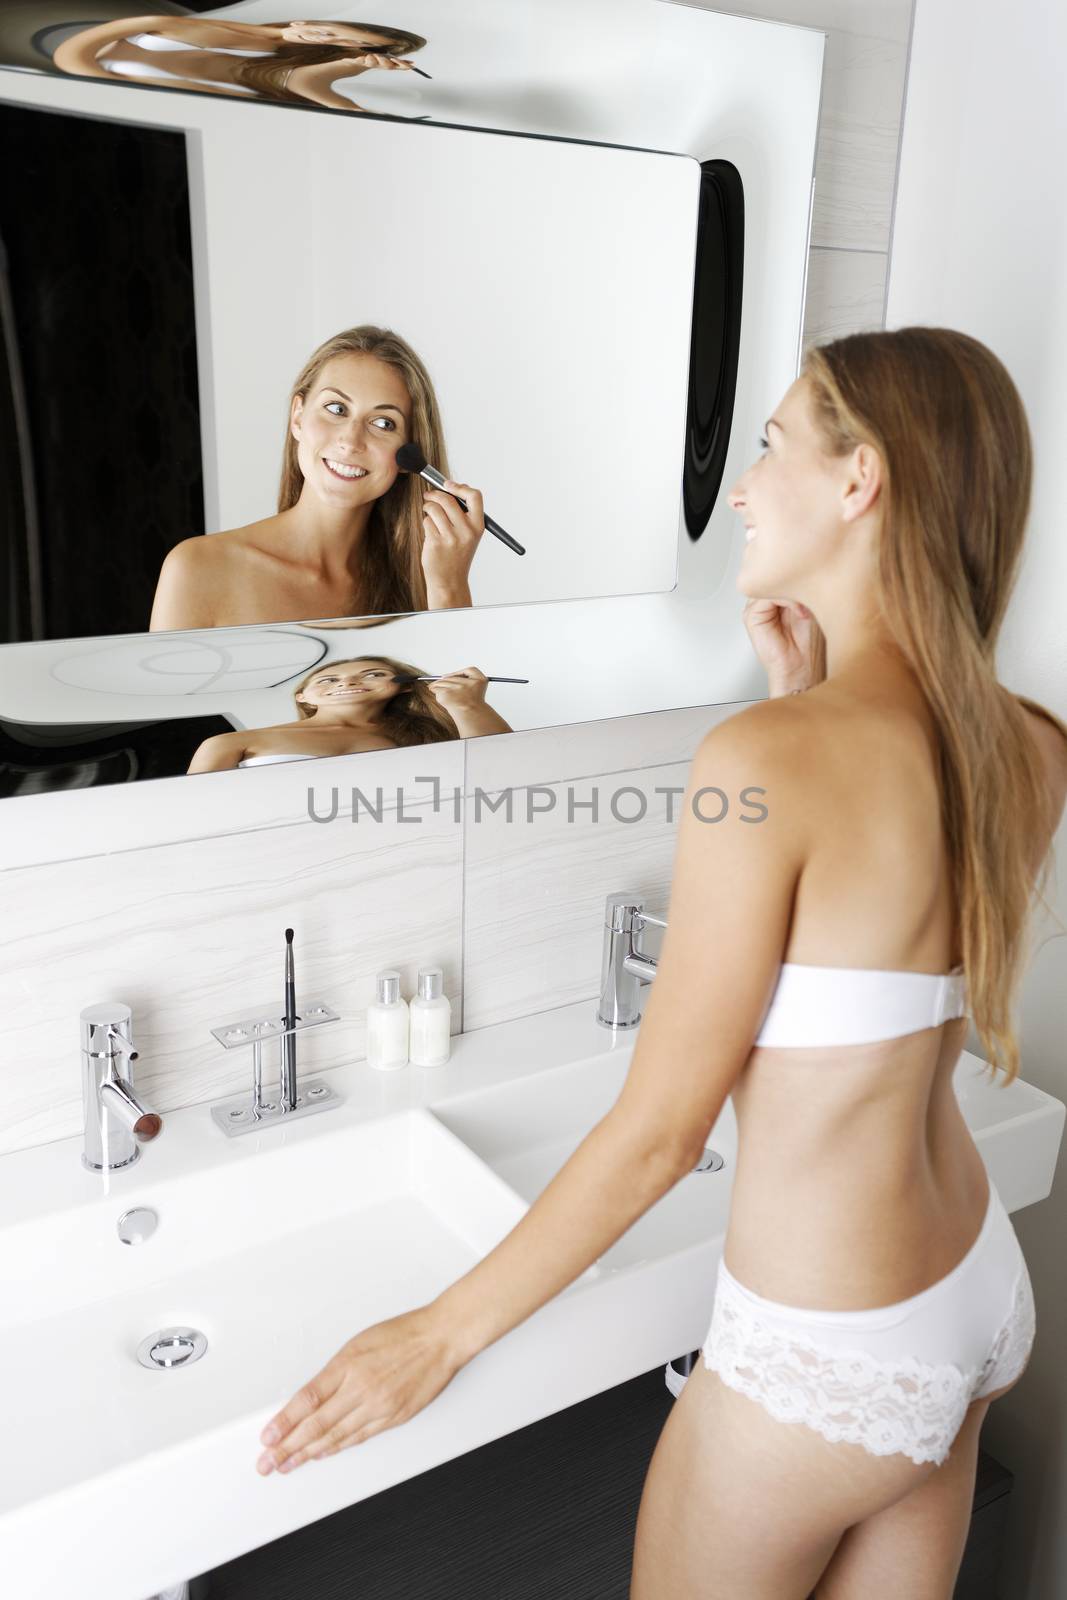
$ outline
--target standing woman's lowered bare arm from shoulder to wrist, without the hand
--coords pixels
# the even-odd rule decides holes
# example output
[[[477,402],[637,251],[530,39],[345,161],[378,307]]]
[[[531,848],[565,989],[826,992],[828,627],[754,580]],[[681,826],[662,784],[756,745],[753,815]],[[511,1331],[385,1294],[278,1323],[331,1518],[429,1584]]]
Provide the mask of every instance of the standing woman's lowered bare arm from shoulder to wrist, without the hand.
[[[579,1277],[699,1160],[787,942],[805,858],[803,808],[790,814],[784,794],[801,758],[797,709],[757,704],[693,758],[667,931],[622,1093],[507,1238],[434,1302],[462,1362]],[[713,821],[721,795],[728,811]]]

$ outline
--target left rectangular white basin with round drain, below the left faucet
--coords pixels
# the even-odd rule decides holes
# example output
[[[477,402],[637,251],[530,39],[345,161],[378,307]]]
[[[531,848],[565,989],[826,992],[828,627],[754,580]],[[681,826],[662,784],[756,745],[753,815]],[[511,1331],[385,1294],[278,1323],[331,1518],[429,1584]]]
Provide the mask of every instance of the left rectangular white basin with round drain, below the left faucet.
[[[355,1331],[434,1299],[526,1210],[426,1110],[315,1133],[171,1181],[146,1157],[139,1192],[115,1174],[112,1197],[0,1227],[0,1370],[16,1379],[0,1549],[19,1507],[280,1408]],[[131,1205],[158,1214],[139,1245],[117,1234]],[[141,1341],[173,1325],[202,1331],[206,1352],[139,1365]]]

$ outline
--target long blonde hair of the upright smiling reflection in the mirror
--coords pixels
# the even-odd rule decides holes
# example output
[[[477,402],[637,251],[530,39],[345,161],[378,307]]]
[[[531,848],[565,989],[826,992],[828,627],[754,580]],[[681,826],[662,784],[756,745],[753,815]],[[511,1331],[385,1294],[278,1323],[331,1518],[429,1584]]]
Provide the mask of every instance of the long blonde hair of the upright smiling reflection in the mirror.
[[[334,355],[376,355],[387,362],[403,378],[411,397],[410,442],[419,445],[427,461],[446,477],[451,477],[445,451],[445,429],[437,395],[426,366],[406,339],[390,328],[362,323],[346,328],[326,339],[304,363],[290,392],[290,408],[285,421],[285,450],[282,456],[282,483],[278,485],[278,510],[296,506],[304,488],[304,474],[298,461],[298,445],[290,429],[290,416],[296,395],[307,395],[318,381],[326,362]],[[422,493],[416,472],[400,472],[397,482],[371,506],[363,544],[365,558],[360,574],[360,610],[376,611],[426,611],[426,576],[422,573]]]

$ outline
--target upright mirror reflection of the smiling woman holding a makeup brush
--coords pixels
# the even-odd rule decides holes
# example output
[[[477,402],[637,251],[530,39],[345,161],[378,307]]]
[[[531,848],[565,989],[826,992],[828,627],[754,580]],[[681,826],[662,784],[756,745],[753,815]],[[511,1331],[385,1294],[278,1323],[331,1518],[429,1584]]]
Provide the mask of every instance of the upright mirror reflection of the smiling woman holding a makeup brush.
[[[410,442],[448,472],[434,384],[411,346],[371,325],[326,339],[290,394],[277,514],[176,544],[149,627],[470,605],[482,493],[402,472],[397,451]]]

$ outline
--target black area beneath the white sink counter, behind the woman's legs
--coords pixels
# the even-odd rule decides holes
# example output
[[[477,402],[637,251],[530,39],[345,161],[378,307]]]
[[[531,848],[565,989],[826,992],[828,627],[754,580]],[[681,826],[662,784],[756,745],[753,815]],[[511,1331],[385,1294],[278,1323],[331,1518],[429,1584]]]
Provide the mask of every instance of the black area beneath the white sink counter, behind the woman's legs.
[[[672,1405],[656,1366],[214,1568],[190,1600],[629,1600],[641,1490]],[[979,1453],[955,1600],[998,1600],[1009,1486]]]

